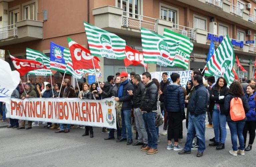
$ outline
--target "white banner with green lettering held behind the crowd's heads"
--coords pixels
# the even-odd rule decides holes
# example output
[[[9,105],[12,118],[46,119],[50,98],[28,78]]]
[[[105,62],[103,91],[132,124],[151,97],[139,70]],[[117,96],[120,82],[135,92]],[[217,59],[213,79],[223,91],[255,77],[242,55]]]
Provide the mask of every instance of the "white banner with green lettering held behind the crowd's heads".
[[[185,87],[186,88],[186,85],[187,85],[187,82],[189,80],[191,80],[191,73],[192,73],[192,70],[189,70],[189,71],[163,71],[163,72],[152,72],[150,73],[151,74],[151,78],[156,78],[159,82],[161,82],[163,79],[162,79],[162,74],[166,72],[168,74],[168,80],[172,83],[172,80],[171,80],[171,77],[170,75],[172,73],[178,73],[180,75],[180,84],[181,86]]]

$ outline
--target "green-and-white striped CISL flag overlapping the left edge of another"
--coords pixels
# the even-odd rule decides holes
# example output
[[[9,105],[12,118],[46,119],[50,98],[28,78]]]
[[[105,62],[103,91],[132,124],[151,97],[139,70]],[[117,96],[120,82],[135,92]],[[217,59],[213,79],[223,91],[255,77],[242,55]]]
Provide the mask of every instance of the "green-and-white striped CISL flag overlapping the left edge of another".
[[[178,43],[168,45],[169,38],[158,35],[148,29],[141,28],[141,41],[144,63],[172,67]]]

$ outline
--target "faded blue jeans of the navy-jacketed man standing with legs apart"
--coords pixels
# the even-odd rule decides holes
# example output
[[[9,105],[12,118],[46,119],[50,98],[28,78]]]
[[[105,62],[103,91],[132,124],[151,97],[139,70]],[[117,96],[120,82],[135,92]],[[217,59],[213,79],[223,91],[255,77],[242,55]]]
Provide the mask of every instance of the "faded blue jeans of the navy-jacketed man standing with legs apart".
[[[198,116],[191,115],[188,116],[188,133],[187,141],[184,147],[185,151],[191,151],[191,145],[195,137],[195,132],[197,136],[198,152],[204,152],[205,150],[205,117],[206,114],[200,114]]]

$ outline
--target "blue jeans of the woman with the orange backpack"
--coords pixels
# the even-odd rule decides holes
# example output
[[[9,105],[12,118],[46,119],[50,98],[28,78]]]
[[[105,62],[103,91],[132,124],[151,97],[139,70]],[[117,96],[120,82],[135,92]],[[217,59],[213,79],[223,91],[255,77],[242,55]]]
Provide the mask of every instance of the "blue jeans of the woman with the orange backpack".
[[[243,129],[244,129],[245,121],[232,121],[228,122],[228,126],[231,133],[231,142],[232,148],[234,151],[237,151],[237,136],[239,141],[239,148],[240,150],[244,150],[244,136],[243,136]]]

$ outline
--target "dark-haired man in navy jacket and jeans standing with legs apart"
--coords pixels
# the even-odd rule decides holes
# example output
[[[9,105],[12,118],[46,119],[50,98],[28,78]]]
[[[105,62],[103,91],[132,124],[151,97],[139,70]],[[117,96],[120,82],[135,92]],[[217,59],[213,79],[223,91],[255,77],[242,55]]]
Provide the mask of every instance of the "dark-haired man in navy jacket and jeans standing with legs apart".
[[[197,157],[203,156],[205,150],[205,117],[207,112],[207,105],[209,97],[206,88],[203,84],[203,77],[200,75],[194,76],[193,84],[195,92],[192,94],[189,106],[189,121],[187,131],[187,141],[184,149],[179,154],[191,154],[191,144],[193,138],[197,135],[198,152]]]

